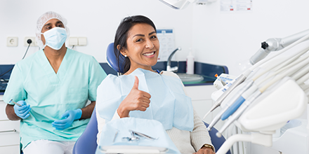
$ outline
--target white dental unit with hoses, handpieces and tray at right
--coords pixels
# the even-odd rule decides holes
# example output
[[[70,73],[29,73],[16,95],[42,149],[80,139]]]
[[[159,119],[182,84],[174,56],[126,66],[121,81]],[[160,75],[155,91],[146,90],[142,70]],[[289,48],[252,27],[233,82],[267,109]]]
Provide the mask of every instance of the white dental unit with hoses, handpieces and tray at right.
[[[297,37],[299,39],[296,39]],[[287,123],[287,121],[297,118],[301,115],[301,113],[303,113],[306,104],[308,104],[309,95],[309,86],[304,85],[304,82],[309,79],[309,47],[307,45],[305,48],[297,52],[293,52],[289,57],[283,57],[284,55],[282,55],[282,53],[290,50],[299,43],[308,40],[308,38],[309,30],[306,30],[287,38],[275,39],[284,45],[278,45],[278,43],[276,44],[274,42],[268,43],[267,45],[262,43],[264,45],[264,51],[264,48],[267,47],[270,48],[269,52],[278,50],[278,48],[280,48],[280,50],[265,59],[263,58],[267,54],[265,55],[265,53],[263,53],[260,54],[260,56],[257,56],[258,53],[256,53],[253,57],[251,57],[251,59],[255,59],[253,61],[256,61],[256,64],[251,66],[249,69],[244,71],[244,73],[235,78],[235,80],[232,80],[228,83],[228,85],[225,85],[219,90],[221,91],[221,96],[216,99],[216,102],[213,106],[211,106],[211,109],[206,113],[204,118],[218,106],[221,106],[222,109],[215,116],[215,118],[213,118],[209,124],[209,127],[207,127],[207,130],[211,130],[211,128],[218,123],[218,120],[227,120],[223,127],[221,127],[221,130],[218,131],[218,137],[221,137],[221,134],[232,123],[235,123],[237,127],[245,132],[258,133],[233,135],[225,141],[225,144],[223,144],[219,151],[217,151],[218,154],[226,153],[230,146],[232,146],[232,144],[236,141],[250,141],[254,144],[271,146],[272,134],[274,134],[274,131],[282,127],[285,123]],[[272,48],[271,45],[275,45],[277,48]],[[258,59],[254,57],[260,58]],[[295,96],[292,94],[290,97],[293,97],[296,103],[289,104],[287,99],[290,98],[284,96],[284,94],[283,96],[280,96],[280,92],[286,92],[287,95],[294,93]],[[275,101],[274,96],[276,96],[277,99]],[[279,96],[280,98],[277,98]],[[284,102],[283,104],[289,104],[285,106],[282,104],[279,109],[280,111],[287,112],[288,114],[282,114],[284,116],[279,120],[276,119],[273,123],[267,122],[261,126],[259,126],[257,122],[253,123],[252,121],[254,120],[260,122],[259,120],[265,118],[263,116],[261,116],[261,118],[259,117],[259,114],[263,115],[263,113],[258,113],[256,108],[261,109],[261,104],[267,106],[266,102],[272,102],[273,104],[280,104],[280,102]],[[275,107],[273,104],[270,104],[270,106]],[[287,106],[293,106],[294,108],[288,108]],[[290,111],[287,109],[290,109]],[[252,119],[253,113],[255,114]],[[280,118],[277,116],[280,115],[279,111],[271,114],[271,120]],[[251,122],[253,124],[249,125],[247,122]]]

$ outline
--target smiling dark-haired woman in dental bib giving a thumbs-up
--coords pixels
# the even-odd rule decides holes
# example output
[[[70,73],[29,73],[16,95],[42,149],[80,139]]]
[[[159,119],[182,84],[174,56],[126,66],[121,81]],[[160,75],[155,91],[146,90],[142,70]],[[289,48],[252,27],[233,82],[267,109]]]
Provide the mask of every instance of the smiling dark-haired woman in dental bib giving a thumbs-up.
[[[124,75],[109,75],[98,87],[98,140],[103,126],[111,120],[145,118],[162,123],[180,153],[213,154],[209,133],[179,77],[152,69],[159,55],[152,20],[143,15],[124,18],[114,38],[114,52],[118,61],[121,56],[125,58]],[[106,86],[110,88],[106,90]]]

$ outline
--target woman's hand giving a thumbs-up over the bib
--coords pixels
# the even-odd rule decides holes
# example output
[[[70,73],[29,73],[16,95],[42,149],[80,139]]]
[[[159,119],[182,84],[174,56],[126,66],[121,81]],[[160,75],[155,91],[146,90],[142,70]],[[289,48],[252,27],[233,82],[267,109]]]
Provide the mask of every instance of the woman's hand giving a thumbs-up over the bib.
[[[146,111],[147,107],[149,107],[151,95],[142,90],[138,90],[139,80],[137,76],[134,77],[135,82],[131,92],[121,102],[117,109],[120,118],[129,117],[130,111]]]

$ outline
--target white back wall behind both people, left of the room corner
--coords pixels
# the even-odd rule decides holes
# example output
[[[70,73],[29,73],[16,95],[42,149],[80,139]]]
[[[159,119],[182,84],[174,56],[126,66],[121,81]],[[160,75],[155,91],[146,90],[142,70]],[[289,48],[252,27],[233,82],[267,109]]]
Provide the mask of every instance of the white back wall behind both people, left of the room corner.
[[[107,45],[114,41],[120,21],[129,15],[146,15],[157,28],[173,28],[176,47],[191,47],[192,6],[173,10],[159,0],[1,0],[0,1],[0,64],[15,64],[25,53],[25,36],[34,36],[37,19],[49,10],[63,15],[70,36],[86,36],[88,45],[74,49],[105,61]],[[184,22],[185,21],[185,22]],[[7,47],[8,36],[18,37],[18,47]],[[67,43],[68,44],[68,43]],[[39,47],[30,47],[27,56]],[[178,52],[176,59],[185,59],[187,52]]]

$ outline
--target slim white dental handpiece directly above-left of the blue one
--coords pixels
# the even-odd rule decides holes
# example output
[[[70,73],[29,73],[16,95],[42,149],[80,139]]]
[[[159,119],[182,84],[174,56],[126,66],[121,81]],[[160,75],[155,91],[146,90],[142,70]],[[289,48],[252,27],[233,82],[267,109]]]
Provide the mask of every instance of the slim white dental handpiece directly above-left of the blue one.
[[[251,80],[249,83],[247,83],[244,87],[242,87],[239,92],[237,92],[237,94],[235,94],[234,99],[232,99],[230,102],[228,102],[227,104],[225,104],[225,106],[223,107],[223,109],[216,115],[215,118],[213,118],[213,120],[211,121],[211,123],[209,124],[209,126],[207,127],[207,130],[210,131],[211,128],[216,125],[216,123],[218,123],[218,120],[220,120],[221,116],[223,115],[223,113],[225,113],[225,111],[227,111],[229,109],[229,107],[237,100],[237,98],[239,98],[239,96],[244,93],[249,87],[251,87],[251,85],[254,83],[253,80]]]

